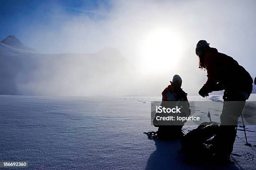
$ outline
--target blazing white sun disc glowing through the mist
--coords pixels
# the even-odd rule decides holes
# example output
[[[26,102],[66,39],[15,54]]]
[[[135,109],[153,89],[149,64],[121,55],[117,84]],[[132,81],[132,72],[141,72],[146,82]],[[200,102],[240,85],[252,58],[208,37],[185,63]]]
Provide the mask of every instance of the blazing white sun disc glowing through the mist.
[[[140,48],[142,69],[147,73],[175,69],[181,58],[180,37],[171,30],[149,32]]]

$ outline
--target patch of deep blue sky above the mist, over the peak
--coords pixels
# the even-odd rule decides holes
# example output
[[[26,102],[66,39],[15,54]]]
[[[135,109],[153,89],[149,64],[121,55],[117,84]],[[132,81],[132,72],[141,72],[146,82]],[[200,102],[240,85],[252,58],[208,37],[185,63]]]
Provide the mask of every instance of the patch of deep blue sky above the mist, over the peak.
[[[31,25],[49,25],[54,16],[54,10],[58,7],[60,13],[69,16],[87,15],[98,19],[95,13],[86,12],[95,10],[101,6],[110,9],[106,0],[0,0],[0,39],[8,35],[22,37],[24,31]],[[68,20],[68,18],[58,18]]]

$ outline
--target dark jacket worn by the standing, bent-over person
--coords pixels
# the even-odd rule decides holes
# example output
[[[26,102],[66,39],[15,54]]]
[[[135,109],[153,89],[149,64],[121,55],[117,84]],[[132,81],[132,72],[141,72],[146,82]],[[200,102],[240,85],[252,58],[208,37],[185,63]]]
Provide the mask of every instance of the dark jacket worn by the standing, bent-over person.
[[[251,94],[253,80],[250,74],[232,57],[219,53],[216,48],[205,51],[207,82],[205,86],[215,91],[217,83],[228,91],[244,91]]]

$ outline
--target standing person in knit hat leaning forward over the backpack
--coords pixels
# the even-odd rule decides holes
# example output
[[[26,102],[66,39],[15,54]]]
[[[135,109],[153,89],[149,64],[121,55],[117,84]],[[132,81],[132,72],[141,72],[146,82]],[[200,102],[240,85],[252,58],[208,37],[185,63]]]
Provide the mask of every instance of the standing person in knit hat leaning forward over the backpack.
[[[236,138],[238,117],[241,116],[245,101],[252,92],[253,80],[250,74],[232,57],[211,48],[205,40],[197,43],[195,53],[199,58],[199,68],[207,70],[207,82],[198,92],[209,96],[212,91],[225,90],[220,128],[212,139],[211,154],[216,160],[229,161]],[[230,102],[231,101],[231,102]],[[232,102],[235,103],[232,103]]]

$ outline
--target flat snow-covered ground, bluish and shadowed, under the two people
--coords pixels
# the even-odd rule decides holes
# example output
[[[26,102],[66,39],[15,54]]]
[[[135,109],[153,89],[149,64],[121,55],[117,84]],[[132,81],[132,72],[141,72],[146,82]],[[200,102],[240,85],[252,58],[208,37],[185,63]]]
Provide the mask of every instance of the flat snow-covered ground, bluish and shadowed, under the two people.
[[[188,98],[221,100],[221,96]],[[244,145],[241,127],[231,157],[236,165],[187,164],[179,157],[179,140],[149,140],[143,132],[157,130],[150,123],[150,104],[159,100],[0,95],[0,161],[27,161],[28,169],[47,170],[256,169],[256,147]],[[256,94],[250,100],[256,101]],[[255,132],[255,126],[246,126],[252,145]]]

